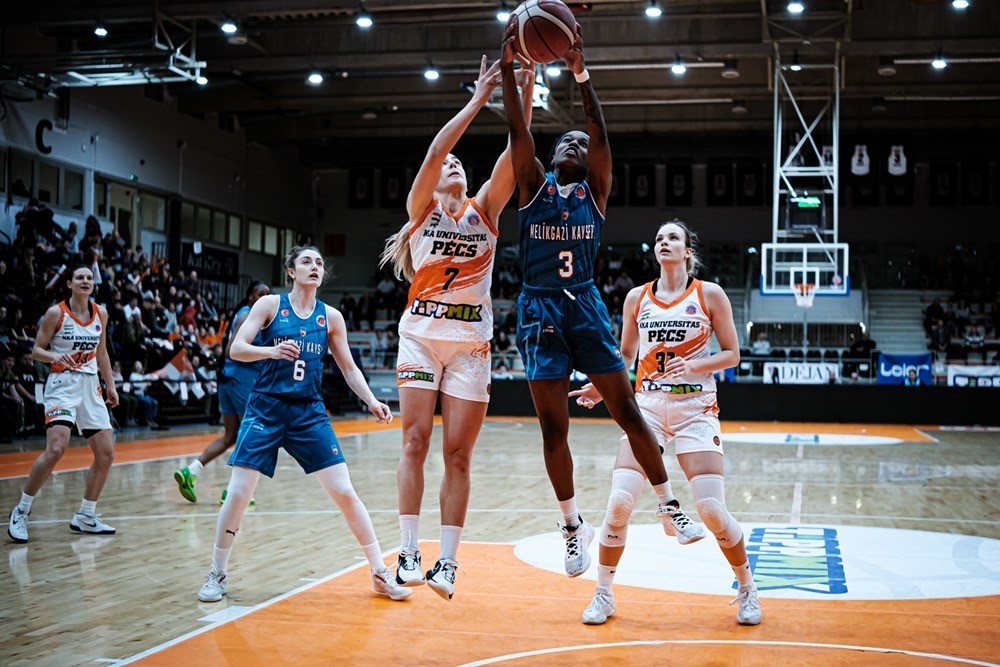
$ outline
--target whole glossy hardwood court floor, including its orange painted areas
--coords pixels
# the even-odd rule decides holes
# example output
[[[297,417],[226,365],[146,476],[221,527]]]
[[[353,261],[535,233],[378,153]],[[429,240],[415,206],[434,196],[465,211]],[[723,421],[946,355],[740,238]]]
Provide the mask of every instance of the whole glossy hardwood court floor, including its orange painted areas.
[[[400,433],[398,421],[389,429],[373,426],[335,423],[355,486],[388,552],[398,540]],[[850,437],[862,430],[903,442],[841,446],[817,435]],[[929,531],[959,540],[953,550],[964,555],[955,562],[980,577],[976,581],[1000,580],[1000,551],[993,542],[1000,539],[997,433],[734,423],[724,424],[724,431],[727,499],[748,526],[881,529],[885,544],[875,541],[876,550],[889,549],[894,536],[903,540],[917,535],[909,531]],[[781,435],[760,435],[768,432]],[[602,420],[576,420],[571,427],[577,496],[595,524],[606,504],[617,436]],[[726,605],[732,576],[718,549],[710,539],[683,548],[667,543],[650,525],[655,521],[650,494],[640,500],[630,533],[635,546],[626,558],[641,554],[646,544],[656,564],[636,580],[626,579],[627,569],[634,574],[643,565],[626,567],[623,561],[615,586],[618,614],[605,626],[582,625],[596,565],[586,575],[591,580],[572,580],[532,560],[528,549],[532,540],[550,540],[540,553],[560,557],[555,550],[561,540],[553,538],[558,513],[533,420],[487,421],[473,459],[462,570],[451,602],[426,587],[402,603],[374,596],[360,549],[336,508],[283,455],[276,479],[262,480],[257,505],[244,521],[231,560],[228,600],[200,604],[196,593],[211,558],[228,467],[209,465],[198,482],[196,505],[180,498],[171,475],[210,438],[205,430],[120,443],[98,506],[118,528],[109,538],[69,531],[89,455],[67,454],[64,471],[35,501],[31,542],[4,545],[7,567],[0,556],[0,664],[114,664],[138,657],[143,664],[450,665],[500,656],[516,664],[895,665],[948,657],[1000,662],[998,595],[906,599],[904,585],[893,589],[902,591],[899,599],[833,601],[772,597],[765,591],[764,623],[739,627],[734,608]],[[438,531],[433,508],[442,473],[439,451],[440,445],[432,449],[427,464],[421,534],[428,540]],[[33,458],[33,453],[0,455],[2,511],[16,502],[20,475]],[[676,459],[666,461],[679,499],[693,509]],[[682,551],[695,548],[701,550]],[[437,545],[429,541],[423,549],[429,566]],[[596,544],[592,553],[596,556]],[[710,593],[684,588],[697,583],[694,561],[682,555],[689,553],[712,564],[709,580],[718,573],[717,589],[714,584]],[[937,575],[933,562],[919,569],[929,580]],[[919,576],[893,576],[916,582],[913,586],[933,584]],[[954,581],[959,586],[964,579]],[[238,618],[224,622],[228,617]],[[400,628],[407,628],[405,637]],[[170,642],[175,643],[164,647]]]

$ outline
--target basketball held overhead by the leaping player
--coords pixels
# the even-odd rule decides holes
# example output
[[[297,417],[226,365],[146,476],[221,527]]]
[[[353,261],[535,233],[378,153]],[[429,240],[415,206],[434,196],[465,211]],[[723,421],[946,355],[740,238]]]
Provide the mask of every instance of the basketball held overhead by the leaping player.
[[[508,20],[517,21],[514,48],[537,63],[562,60],[576,41],[576,18],[560,0],[527,0]]]

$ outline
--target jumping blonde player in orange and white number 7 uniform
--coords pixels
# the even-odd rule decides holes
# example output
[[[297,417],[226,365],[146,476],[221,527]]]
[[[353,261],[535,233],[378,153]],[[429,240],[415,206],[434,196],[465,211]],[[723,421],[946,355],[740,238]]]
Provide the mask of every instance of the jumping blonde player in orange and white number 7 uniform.
[[[530,114],[534,69],[524,64],[518,83]],[[401,536],[396,580],[405,586],[426,582],[446,600],[455,592],[458,543],[469,505],[469,463],[489,402],[497,220],[514,192],[509,144],[473,197],[467,194],[462,162],[451,151],[498,85],[499,64],[487,67],[483,56],[472,99],[427,149],[406,200],[409,220],[386,242],[381,262],[391,262],[396,276],[412,283],[399,322],[396,364],[403,419],[396,471]],[[445,464],[441,554],[425,577],[417,536],[438,395]]]

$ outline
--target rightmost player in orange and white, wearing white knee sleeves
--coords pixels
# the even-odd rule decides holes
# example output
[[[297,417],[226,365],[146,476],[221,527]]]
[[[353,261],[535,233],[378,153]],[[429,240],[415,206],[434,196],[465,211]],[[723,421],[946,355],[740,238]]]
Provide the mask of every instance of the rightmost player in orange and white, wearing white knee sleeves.
[[[739,363],[739,340],[726,293],[715,283],[702,282],[693,275],[698,267],[696,242],[697,237],[680,221],[660,227],[653,248],[660,277],[632,289],[625,298],[622,357],[631,366],[638,355],[635,391],[643,418],[661,449],[673,440],[677,461],[691,482],[698,516],[715,535],[736,574],[737,621],[757,625],[760,601],[743,530],[726,508],[713,375]],[[722,348],[714,355],[709,351],[713,332]],[[601,400],[590,384],[569,395],[587,408]],[[625,436],[611,479],[601,526],[597,591],[583,612],[583,622],[588,625],[600,625],[615,613],[611,584],[625,550],[629,517],[645,482]],[[664,528],[668,532],[671,528],[665,520]]]

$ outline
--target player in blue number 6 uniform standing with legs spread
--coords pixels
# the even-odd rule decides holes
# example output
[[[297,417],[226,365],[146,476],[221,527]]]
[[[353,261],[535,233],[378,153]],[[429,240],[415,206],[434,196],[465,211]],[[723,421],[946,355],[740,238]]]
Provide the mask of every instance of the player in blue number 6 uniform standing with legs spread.
[[[382,562],[371,517],[351,484],[343,450],[323,406],[327,352],[333,353],[348,386],[379,422],[392,421],[392,413],[372,394],[351,357],[344,316],[316,298],[325,274],[319,251],[312,246],[292,248],[285,269],[292,280],[291,293],[258,300],[230,347],[233,359],[256,362],[259,372],[229,459],[233,474],[219,511],[212,568],[198,599],[218,602],[226,594],[226,568],[240,522],[261,473],[274,475],[278,449],[284,448],[307,475],[316,476],[344,515],[371,566],[375,592],[403,600],[411,591],[398,585]],[[258,333],[261,344],[255,345]]]

